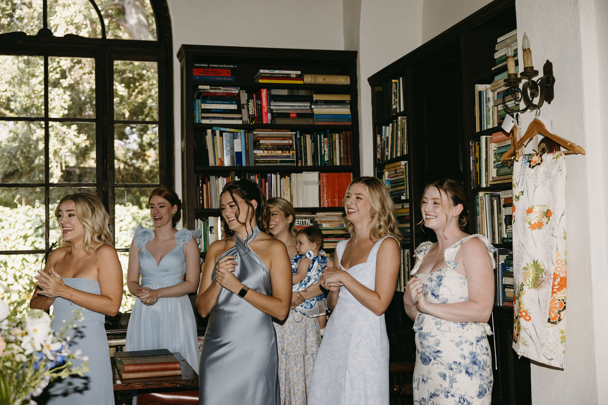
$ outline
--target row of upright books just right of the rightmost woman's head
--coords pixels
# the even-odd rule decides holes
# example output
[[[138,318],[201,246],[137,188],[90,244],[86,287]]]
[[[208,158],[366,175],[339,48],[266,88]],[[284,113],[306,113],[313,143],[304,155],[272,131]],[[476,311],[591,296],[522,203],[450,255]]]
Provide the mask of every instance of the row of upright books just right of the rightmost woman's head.
[[[513,189],[478,192],[475,216],[477,233],[490,243],[513,243]]]

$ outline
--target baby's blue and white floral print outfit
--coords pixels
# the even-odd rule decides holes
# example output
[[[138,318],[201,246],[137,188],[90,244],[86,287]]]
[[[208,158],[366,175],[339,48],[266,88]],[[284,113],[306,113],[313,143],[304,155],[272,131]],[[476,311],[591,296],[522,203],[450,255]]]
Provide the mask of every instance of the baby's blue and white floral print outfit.
[[[298,264],[303,257],[308,257],[308,259],[313,260],[313,262],[308,266],[308,271],[306,272],[304,279],[298,284],[293,285],[292,291],[303,291],[311,285],[317,284],[321,279],[323,270],[325,270],[325,267],[327,267],[327,256],[325,256],[325,251],[319,250],[319,256],[314,256],[313,251],[309,250],[305,254],[296,254],[294,258],[291,259],[292,274],[298,272]],[[294,308],[294,312],[299,313],[300,315],[308,316],[309,318],[325,315],[325,310],[327,308],[326,299],[327,294],[321,294],[315,298],[305,299],[302,304]],[[297,318],[302,318],[302,316]]]

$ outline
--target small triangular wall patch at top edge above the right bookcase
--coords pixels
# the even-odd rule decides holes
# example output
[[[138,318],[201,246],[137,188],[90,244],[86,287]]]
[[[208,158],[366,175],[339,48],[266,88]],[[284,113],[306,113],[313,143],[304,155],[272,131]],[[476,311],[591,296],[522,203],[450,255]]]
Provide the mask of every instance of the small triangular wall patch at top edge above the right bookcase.
[[[424,0],[422,10],[423,43],[481,9],[491,0]]]

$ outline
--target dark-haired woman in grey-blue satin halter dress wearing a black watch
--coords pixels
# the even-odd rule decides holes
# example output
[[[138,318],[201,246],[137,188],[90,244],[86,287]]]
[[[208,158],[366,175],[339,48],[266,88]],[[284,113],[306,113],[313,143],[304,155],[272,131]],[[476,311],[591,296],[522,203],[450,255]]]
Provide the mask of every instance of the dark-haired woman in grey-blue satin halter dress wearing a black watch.
[[[285,244],[266,233],[269,209],[256,183],[224,186],[227,239],[209,246],[196,306],[209,324],[199,366],[199,404],[280,405],[277,338],[285,319],[291,264]]]

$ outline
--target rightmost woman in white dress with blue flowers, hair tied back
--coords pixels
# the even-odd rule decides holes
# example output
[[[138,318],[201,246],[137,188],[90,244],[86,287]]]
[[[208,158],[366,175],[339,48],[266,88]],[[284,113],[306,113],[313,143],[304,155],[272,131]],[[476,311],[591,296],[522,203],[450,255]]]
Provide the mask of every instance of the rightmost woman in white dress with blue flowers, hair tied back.
[[[490,404],[492,358],[486,323],[494,302],[494,247],[463,231],[468,196],[454,180],[424,190],[424,226],[438,242],[423,242],[403,301],[415,319],[414,404]]]

